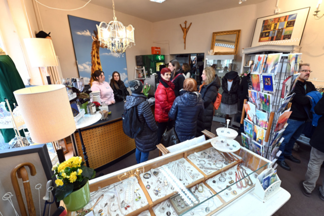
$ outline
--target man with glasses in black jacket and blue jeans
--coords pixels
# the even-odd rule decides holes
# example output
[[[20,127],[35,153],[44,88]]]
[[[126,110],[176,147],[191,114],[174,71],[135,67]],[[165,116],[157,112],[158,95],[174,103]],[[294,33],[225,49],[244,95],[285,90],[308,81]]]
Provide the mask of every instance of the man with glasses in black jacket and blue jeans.
[[[284,141],[279,146],[281,155],[279,156],[277,163],[282,168],[290,171],[290,166],[286,163],[285,158],[293,161],[294,163],[300,163],[300,160],[292,155],[293,147],[296,140],[300,137],[305,127],[305,122],[308,120],[308,115],[305,111],[305,107],[310,110],[311,104],[309,98],[306,96],[311,91],[316,91],[313,83],[306,81],[309,79],[309,75],[312,71],[308,63],[302,63],[299,65],[300,76],[296,82],[294,93],[296,94],[292,100],[291,111],[287,123],[288,126],[282,137]]]

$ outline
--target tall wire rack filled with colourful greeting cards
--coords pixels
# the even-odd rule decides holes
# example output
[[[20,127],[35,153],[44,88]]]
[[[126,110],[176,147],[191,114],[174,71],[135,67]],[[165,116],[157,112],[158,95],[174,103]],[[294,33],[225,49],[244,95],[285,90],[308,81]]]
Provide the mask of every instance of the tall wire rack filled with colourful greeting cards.
[[[298,56],[298,55],[300,55],[300,56]],[[278,124],[278,120],[279,120],[280,116],[282,114],[284,114],[284,111],[291,107],[290,101],[293,98],[293,96],[290,97],[290,95],[292,93],[292,89],[293,89],[293,83],[291,82],[289,77],[292,77],[292,80],[293,80],[293,78],[295,78],[295,80],[297,80],[299,63],[300,63],[297,60],[301,59],[301,55],[302,54],[282,54],[281,55],[280,60],[273,66],[274,68],[277,67],[277,72],[276,72],[276,74],[274,74],[274,73],[272,74],[272,77],[273,77],[273,79],[271,80],[272,86],[270,89],[267,89],[268,91],[266,91],[266,89],[265,89],[265,83],[263,81],[263,78],[260,78],[260,77],[263,77],[263,75],[265,75],[265,73],[263,73],[263,69],[264,69],[264,67],[266,67],[266,64],[265,64],[265,62],[260,64],[261,66],[260,65],[258,66],[258,70],[253,71],[253,72],[259,74],[258,75],[259,82],[253,84],[253,80],[251,78],[251,82],[249,83],[250,86],[252,87],[252,89],[250,89],[250,90],[252,90],[252,92],[257,92],[256,93],[257,97],[255,98],[255,96],[253,96],[251,93],[251,95],[249,94],[249,99],[244,101],[244,104],[248,104],[248,101],[249,101],[250,104],[252,103],[253,106],[255,105],[256,110],[264,112],[267,116],[267,127],[262,128],[262,129],[264,129],[264,131],[266,133],[264,133],[264,135],[263,135],[263,142],[261,144],[263,146],[263,152],[260,155],[269,159],[269,160],[272,160],[272,161],[274,161],[276,159],[276,156],[275,156],[276,152],[274,152],[274,151],[278,150],[278,146],[280,145],[280,140],[281,140],[280,136],[283,133],[283,131],[281,131],[281,133],[278,134],[278,131],[280,131],[280,129],[278,130],[278,128],[282,128],[283,130],[285,129],[284,124],[282,124],[282,125]],[[258,55],[256,55],[256,56],[258,56]],[[296,58],[296,60],[294,60],[294,61],[291,60],[292,56],[294,56],[294,58]],[[300,58],[298,58],[298,57],[300,57]],[[254,73],[251,73],[251,74],[254,74]],[[269,72],[267,74],[269,74]],[[288,85],[289,90],[282,89],[282,88],[284,88],[284,85],[285,85],[284,81],[286,81],[286,80],[290,81],[290,85]],[[260,90],[260,91],[253,90],[255,87],[259,88],[258,90]],[[267,98],[262,97],[265,95],[267,96]],[[264,104],[268,104],[268,105],[265,106]],[[246,109],[245,109],[245,107],[243,107],[241,121],[240,121],[241,124],[245,123],[246,114],[247,114]],[[249,143],[249,149],[251,151],[259,153],[258,151],[256,151],[256,149],[254,148],[254,145],[252,145],[252,143],[256,140],[256,138],[255,138],[256,135],[254,132],[255,131],[254,125],[257,125],[260,127],[261,126],[259,124],[260,120],[256,115],[253,116],[252,119],[253,119],[253,122],[252,122],[253,123],[252,124],[253,136],[251,137],[251,140]],[[242,145],[247,146],[246,142],[244,142],[244,141],[242,141]]]

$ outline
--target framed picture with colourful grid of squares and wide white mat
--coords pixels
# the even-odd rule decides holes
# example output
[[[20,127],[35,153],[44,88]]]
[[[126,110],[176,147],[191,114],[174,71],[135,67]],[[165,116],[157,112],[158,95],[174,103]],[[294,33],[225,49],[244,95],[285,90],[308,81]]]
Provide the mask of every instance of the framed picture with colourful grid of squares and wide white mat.
[[[300,45],[309,14],[308,8],[257,19],[251,47]]]

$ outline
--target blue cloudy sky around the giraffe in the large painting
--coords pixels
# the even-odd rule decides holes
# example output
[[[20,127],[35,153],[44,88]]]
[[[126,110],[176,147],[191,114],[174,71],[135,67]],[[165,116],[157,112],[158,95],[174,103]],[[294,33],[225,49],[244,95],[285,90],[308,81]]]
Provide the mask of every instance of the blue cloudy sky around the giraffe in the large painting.
[[[97,30],[100,22],[68,15],[73,47],[77,61],[79,76],[84,77],[88,84],[91,77],[91,47],[93,31]],[[120,79],[128,87],[126,53],[112,53],[107,49],[99,49],[102,70],[105,73],[105,81],[110,83],[112,72],[118,71]]]

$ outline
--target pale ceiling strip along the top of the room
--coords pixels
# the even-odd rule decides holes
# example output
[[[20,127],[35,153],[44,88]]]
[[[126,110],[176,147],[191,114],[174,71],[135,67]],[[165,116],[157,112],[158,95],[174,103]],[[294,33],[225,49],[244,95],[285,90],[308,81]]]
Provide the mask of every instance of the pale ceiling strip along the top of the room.
[[[82,1],[88,2],[89,0]],[[164,3],[149,0],[114,0],[114,3],[117,19],[118,12],[121,12],[150,22],[158,22],[265,1],[267,0],[247,0],[238,4],[238,0],[166,0]],[[112,0],[92,0],[91,4],[112,9]]]

